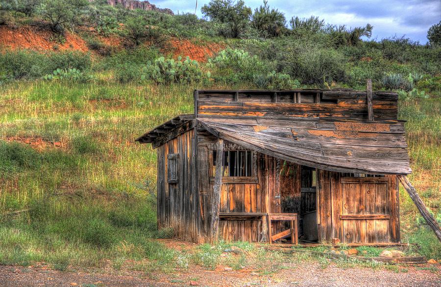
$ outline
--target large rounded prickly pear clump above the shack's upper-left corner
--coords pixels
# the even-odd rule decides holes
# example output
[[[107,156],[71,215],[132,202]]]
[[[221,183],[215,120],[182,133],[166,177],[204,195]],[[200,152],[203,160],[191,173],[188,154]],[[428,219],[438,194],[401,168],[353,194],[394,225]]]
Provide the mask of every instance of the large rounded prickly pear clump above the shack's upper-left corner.
[[[207,73],[209,78],[211,73]],[[154,64],[147,63],[143,68],[142,79],[152,79],[156,83],[182,83],[187,84],[191,82],[198,82],[204,78],[199,63],[196,60],[190,59],[188,56],[182,61],[182,57],[178,57],[177,61],[174,59],[165,59],[160,57],[156,59]]]

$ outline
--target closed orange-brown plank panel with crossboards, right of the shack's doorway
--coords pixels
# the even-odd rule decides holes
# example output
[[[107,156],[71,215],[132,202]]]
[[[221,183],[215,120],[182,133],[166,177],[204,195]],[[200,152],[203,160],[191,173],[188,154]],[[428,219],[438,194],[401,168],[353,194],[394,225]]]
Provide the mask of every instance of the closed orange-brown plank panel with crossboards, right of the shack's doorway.
[[[391,195],[388,178],[342,177],[341,183],[342,242],[389,242]]]

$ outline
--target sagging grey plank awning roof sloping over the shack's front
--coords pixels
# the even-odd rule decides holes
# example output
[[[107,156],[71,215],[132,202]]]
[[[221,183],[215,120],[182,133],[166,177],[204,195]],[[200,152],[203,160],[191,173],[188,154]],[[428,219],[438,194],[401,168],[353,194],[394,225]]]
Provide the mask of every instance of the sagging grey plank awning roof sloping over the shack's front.
[[[349,173],[409,174],[404,124],[202,118],[224,140],[295,163]]]

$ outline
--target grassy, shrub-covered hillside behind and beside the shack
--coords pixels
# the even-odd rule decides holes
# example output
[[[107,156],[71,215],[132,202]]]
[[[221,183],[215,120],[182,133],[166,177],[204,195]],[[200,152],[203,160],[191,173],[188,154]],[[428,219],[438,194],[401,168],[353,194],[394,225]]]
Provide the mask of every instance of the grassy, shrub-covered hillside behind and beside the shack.
[[[372,78],[376,89],[397,91],[399,118],[408,120],[410,180],[441,221],[441,48],[403,38],[346,43],[344,33],[325,30],[286,29],[268,37],[252,26],[230,39],[219,23],[191,15],[98,9],[124,26],[106,26],[98,17],[74,27],[89,52],[61,50],[63,38],[55,37],[50,51],[0,53],[1,264],[44,261],[65,269],[110,259],[118,268],[147,259],[140,268],[185,265],[186,255],[153,240],[172,230],[156,229],[156,153],[133,140],[192,113],[195,88],[364,89]],[[95,15],[89,12],[83,16]],[[8,29],[44,24],[38,14],[20,13],[0,16],[7,16]],[[136,17],[156,28],[136,27]],[[125,47],[128,27],[144,33],[139,45]],[[178,59],[166,49],[176,37],[201,47],[215,39],[219,49],[231,49],[207,63]],[[440,242],[404,190],[400,208],[402,241],[419,244],[412,252],[441,259]]]

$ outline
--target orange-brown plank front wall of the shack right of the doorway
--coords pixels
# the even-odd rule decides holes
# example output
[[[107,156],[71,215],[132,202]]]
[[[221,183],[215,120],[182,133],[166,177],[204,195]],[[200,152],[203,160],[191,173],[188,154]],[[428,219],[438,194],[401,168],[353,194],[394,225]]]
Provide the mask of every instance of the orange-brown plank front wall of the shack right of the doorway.
[[[395,175],[347,177],[319,172],[319,235],[323,242],[399,242],[399,192]]]

